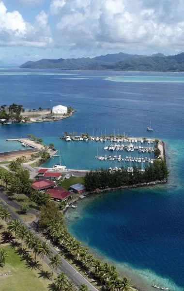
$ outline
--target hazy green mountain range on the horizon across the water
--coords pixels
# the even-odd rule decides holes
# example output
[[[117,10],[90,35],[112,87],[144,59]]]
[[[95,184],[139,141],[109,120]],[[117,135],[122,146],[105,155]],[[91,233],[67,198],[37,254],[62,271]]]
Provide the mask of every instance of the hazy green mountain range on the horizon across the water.
[[[184,52],[165,56],[161,53],[152,56],[131,55],[127,53],[107,54],[94,58],[77,59],[42,59],[29,61],[20,66],[26,69],[61,69],[61,70],[114,70],[114,71],[159,71],[183,72]]]

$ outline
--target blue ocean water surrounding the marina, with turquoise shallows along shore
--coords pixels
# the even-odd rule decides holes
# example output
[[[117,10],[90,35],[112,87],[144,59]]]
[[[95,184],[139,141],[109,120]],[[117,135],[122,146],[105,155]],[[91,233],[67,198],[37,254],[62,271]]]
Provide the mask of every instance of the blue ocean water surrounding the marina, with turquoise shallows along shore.
[[[105,165],[94,159],[97,149],[103,153],[104,143],[66,143],[59,139],[65,130],[80,134],[86,129],[92,134],[94,129],[96,134],[98,129],[98,134],[106,130],[108,135],[119,130],[134,137],[162,139],[170,170],[167,185],[86,198],[67,212],[67,225],[96,256],[117,264],[137,287],[150,291],[155,283],[184,290],[184,74],[65,74],[0,70],[2,104],[16,102],[27,109],[63,104],[77,110],[58,122],[0,126],[0,152],[7,148],[6,138],[33,134],[46,144],[53,142],[67,167],[94,169]],[[150,119],[153,132],[146,130]],[[11,145],[13,150],[15,144]]]

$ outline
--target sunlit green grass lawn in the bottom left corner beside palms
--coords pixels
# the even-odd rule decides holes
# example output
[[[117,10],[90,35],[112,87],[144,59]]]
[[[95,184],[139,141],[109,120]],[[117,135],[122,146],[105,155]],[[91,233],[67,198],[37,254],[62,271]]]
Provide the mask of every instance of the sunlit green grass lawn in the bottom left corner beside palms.
[[[0,290],[1,291],[46,291],[50,280],[42,274],[42,268],[36,270],[30,264],[22,260],[10,246],[1,246],[8,251],[8,259],[5,266],[0,267]],[[51,270],[44,265],[45,273]],[[10,274],[10,275],[3,275]]]

